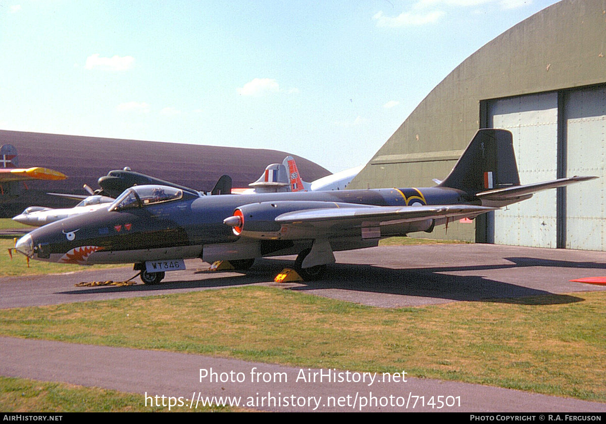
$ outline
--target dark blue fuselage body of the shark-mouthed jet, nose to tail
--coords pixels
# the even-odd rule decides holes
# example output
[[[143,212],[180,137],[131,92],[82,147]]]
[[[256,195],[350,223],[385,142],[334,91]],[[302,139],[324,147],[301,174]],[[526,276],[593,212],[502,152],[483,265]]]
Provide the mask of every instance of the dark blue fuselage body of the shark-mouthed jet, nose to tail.
[[[184,192],[179,200],[124,210],[102,209],[60,220],[31,233],[36,259],[57,260],[56,255],[76,250],[88,256],[96,250],[133,251],[235,242],[239,237],[223,220],[238,207],[258,202],[338,202],[375,206],[478,204],[453,188],[388,188],[377,190],[344,190],[304,193],[233,194],[195,197]],[[355,229],[344,231],[351,236]],[[357,229],[359,236],[359,228]],[[53,255],[53,258],[51,257]],[[191,256],[191,255],[188,255]],[[61,262],[83,263],[82,257],[64,257]],[[145,258],[142,258],[142,260]],[[113,259],[110,262],[119,262]],[[132,257],[124,262],[133,262]],[[95,261],[95,263],[97,263]]]

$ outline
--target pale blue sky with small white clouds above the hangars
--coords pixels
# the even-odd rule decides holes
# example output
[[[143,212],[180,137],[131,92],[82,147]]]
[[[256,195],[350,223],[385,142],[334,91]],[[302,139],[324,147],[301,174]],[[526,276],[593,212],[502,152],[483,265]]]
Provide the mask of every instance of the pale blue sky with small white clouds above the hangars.
[[[0,129],[271,148],[336,172],[555,2],[0,0]]]

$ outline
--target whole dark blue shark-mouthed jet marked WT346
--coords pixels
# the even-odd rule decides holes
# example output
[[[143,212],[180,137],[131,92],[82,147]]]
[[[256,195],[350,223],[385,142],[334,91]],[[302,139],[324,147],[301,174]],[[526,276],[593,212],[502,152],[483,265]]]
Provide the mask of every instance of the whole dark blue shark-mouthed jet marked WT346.
[[[298,254],[295,269],[318,278],[333,251],[470,218],[532,193],[595,177],[520,185],[511,133],[479,130],[446,179],[429,188],[201,196],[161,185],[128,188],[108,208],[68,217],[21,237],[16,250],[65,263],[135,263],[145,283],[182,269],[183,259],[229,260]]]

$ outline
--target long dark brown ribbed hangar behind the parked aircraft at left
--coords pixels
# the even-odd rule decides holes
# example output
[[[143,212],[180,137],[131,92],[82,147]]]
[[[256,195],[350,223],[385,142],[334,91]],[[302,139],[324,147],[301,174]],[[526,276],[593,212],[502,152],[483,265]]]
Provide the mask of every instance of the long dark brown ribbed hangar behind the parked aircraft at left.
[[[0,130],[0,145],[12,144],[20,167],[52,168],[68,176],[65,181],[31,181],[18,197],[0,202],[0,217],[12,217],[31,205],[72,207],[76,201],[48,196],[48,191],[86,194],[84,184],[98,188],[99,177],[129,167],[133,171],[210,191],[223,174],[233,187],[248,187],[267,165],[281,163],[289,153],[278,150],[177,144],[99,137],[65,136]],[[330,174],[314,162],[293,156],[305,181]],[[1,200],[1,199],[0,199]]]

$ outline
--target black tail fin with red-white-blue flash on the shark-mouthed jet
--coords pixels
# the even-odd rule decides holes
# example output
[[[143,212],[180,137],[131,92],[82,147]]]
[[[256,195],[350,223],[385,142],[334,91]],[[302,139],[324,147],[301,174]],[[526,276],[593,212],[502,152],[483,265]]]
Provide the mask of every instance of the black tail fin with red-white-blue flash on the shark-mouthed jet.
[[[520,184],[510,131],[478,130],[459,161],[439,187],[476,194]]]

